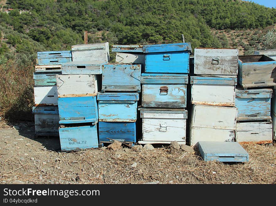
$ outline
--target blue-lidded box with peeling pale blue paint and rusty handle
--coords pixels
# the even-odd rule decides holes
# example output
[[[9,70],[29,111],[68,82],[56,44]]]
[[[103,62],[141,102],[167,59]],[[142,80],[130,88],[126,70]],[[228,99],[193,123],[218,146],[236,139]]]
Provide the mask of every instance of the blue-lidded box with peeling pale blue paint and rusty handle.
[[[188,75],[142,73],[142,106],[185,108]]]

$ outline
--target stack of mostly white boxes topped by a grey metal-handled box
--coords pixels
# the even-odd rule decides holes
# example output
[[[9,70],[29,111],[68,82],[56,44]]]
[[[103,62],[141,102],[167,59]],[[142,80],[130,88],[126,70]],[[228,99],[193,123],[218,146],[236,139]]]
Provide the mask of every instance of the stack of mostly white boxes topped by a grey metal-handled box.
[[[237,108],[237,49],[194,49],[189,143],[234,141]]]

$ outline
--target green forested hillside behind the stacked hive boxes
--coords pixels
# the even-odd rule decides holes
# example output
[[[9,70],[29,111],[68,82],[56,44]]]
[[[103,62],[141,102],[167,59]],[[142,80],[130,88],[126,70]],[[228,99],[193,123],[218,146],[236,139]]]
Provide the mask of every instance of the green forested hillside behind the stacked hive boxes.
[[[0,101],[0,115],[15,104],[9,100],[14,95],[8,97],[6,91],[27,89],[25,96],[32,95],[32,85],[14,85],[32,77],[36,52],[70,50],[83,43],[84,30],[88,43],[176,43],[184,34],[193,49],[237,47],[251,52],[262,32],[275,23],[276,9],[240,0],[0,0],[0,96],[6,97]],[[113,57],[111,53],[111,61]],[[23,72],[22,79],[16,72]],[[25,104],[31,105],[29,100]]]

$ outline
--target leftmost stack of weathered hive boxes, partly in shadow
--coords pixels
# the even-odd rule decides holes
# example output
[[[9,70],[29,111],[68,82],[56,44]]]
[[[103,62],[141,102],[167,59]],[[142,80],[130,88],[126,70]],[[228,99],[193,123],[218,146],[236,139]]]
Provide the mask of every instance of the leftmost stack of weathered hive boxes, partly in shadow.
[[[37,136],[58,136],[56,75],[61,74],[61,64],[67,62],[72,62],[71,51],[37,52],[33,107]]]

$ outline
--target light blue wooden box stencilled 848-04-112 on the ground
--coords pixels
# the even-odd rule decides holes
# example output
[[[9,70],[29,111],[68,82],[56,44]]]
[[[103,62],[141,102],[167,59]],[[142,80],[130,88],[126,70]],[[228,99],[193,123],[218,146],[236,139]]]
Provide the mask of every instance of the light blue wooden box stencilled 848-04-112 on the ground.
[[[59,128],[61,151],[98,147],[97,125]]]

